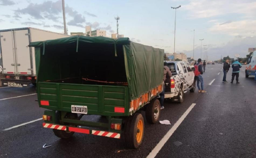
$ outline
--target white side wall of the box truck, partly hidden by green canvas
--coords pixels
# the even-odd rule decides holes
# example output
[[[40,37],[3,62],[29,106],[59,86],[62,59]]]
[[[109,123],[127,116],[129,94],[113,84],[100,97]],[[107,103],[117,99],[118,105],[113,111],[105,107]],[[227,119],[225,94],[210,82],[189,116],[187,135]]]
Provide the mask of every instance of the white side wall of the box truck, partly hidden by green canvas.
[[[36,41],[46,41],[50,39],[69,37],[70,35],[60,34],[56,32],[50,32],[45,30],[39,30],[36,28],[30,28],[30,42]],[[33,59],[33,72],[36,75],[36,60],[35,60],[35,50],[32,49],[32,59]]]

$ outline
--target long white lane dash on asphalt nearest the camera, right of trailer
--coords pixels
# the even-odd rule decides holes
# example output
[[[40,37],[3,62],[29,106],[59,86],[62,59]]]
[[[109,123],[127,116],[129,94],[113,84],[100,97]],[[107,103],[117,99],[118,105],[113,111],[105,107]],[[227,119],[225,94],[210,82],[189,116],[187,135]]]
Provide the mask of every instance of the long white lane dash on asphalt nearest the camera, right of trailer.
[[[164,146],[164,144],[167,142],[167,140],[172,136],[174,131],[179,127],[179,125],[182,123],[182,121],[185,119],[185,117],[188,115],[188,113],[192,110],[192,108],[196,104],[193,103],[189,106],[189,108],[184,112],[184,114],[179,118],[179,120],[172,126],[172,128],[165,134],[165,136],[161,139],[161,141],[155,146],[155,148],[149,153],[147,158],[153,158],[157,155],[157,153],[161,150],[161,148]]]

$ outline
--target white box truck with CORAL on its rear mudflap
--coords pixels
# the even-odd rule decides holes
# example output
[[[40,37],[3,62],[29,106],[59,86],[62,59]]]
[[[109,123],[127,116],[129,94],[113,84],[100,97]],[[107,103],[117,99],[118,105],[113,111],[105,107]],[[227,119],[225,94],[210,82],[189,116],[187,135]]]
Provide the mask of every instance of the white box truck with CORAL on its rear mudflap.
[[[36,84],[36,62],[30,42],[64,38],[69,35],[36,28],[14,28],[0,30],[2,56],[2,86],[26,87]]]

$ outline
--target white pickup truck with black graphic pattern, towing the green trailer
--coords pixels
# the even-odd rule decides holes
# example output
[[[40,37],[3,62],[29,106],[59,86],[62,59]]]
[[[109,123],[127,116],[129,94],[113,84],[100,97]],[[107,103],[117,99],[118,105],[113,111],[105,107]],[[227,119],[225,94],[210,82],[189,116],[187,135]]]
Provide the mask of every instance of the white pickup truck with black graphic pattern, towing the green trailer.
[[[195,68],[185,61],[165,61],[171,70],[172,77],[165,80],[164,98],[170,98],[172,101],[182,103],[184,93],[189,90],[195,91]]]

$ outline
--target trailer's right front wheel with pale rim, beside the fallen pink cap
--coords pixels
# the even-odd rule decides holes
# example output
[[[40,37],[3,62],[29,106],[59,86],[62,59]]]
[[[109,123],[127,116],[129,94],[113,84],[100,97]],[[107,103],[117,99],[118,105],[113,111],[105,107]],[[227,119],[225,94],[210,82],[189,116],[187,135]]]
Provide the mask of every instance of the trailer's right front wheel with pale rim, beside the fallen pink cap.
[[[157,123],[160,117],[160,101],[155,98],[146,107],[146,120],[148,123]]]

